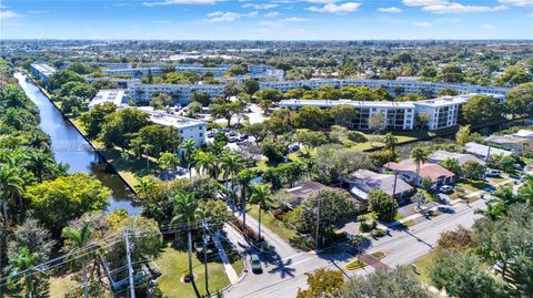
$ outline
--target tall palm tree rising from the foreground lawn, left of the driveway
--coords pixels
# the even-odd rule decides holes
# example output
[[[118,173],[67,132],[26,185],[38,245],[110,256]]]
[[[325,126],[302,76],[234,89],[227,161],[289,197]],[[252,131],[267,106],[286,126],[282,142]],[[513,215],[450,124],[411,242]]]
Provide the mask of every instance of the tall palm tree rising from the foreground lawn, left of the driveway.
[[[187,223],[187,244],[189,250],[189,277],[194,279],[192,275],[192,223],[199,218],[199,204],[193,193],[179,193],[172,197],[174,205],[174,217],[171,224],[177,220],[184,220]]]

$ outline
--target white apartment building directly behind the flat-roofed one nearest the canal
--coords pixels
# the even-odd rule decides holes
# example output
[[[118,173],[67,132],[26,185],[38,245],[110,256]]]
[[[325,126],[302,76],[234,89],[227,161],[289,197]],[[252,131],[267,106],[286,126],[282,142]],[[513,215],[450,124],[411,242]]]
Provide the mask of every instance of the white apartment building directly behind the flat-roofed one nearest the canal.
[[[207,93],[211,97],[223,96],[224,85],[214,84],[131,84],[127,93],[137,102],[148,103],[158,93],[168,93],[177,105],[188,105],[194,93]]]

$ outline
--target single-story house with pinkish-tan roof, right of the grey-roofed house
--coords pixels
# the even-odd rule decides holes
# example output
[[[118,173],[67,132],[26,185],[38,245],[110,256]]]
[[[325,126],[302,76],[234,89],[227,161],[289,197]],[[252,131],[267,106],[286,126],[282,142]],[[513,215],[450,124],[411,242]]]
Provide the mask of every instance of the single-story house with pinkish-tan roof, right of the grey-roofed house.
[[[400,163],[386,163],[385,168],[398,172],[405,182],[423,187],[422,181],[429,178],[431,188],[453,183],[455,174],[434,163],[420,165],[420,176],[416,178],[416,163],[413,160],[401,161]]]

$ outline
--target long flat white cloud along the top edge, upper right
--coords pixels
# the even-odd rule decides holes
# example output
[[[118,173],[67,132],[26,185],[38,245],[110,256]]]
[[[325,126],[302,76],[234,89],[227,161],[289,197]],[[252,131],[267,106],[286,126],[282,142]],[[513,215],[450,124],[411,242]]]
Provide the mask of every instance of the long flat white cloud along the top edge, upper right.
[[[402,2],[408,7],[421,7],[423,11],[432,13],[491,12],[507,9],[505,6],[464,6],[459,2],[451,2],[449,0],[402,0]]]

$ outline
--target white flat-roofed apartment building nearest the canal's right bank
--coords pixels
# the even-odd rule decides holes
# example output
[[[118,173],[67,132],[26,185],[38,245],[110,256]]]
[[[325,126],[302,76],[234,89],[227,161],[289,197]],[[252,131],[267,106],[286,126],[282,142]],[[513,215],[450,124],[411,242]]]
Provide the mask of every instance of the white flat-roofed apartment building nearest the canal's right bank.
[[[207,123],[204,121],[169,114],[165,111],[154,111],[151,106],[137,109],[149,114],[150,121],[155,124],[174,126],[183,141],[193,140],[197,147],[205,144]]]

